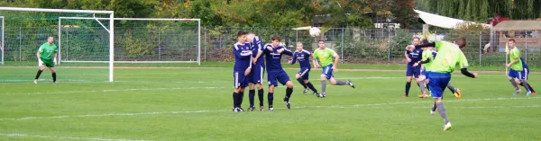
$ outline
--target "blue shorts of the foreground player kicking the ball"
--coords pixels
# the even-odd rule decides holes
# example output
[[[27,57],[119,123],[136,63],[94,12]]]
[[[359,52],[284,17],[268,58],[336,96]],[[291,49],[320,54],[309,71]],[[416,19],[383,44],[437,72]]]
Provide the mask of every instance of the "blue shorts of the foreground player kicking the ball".
[[[429,79],[428,87],[430,88],[430,95],[435,99],[441,98],[444,95],[447,84],[451,81],[451,73],[432,72],[429,75]]]

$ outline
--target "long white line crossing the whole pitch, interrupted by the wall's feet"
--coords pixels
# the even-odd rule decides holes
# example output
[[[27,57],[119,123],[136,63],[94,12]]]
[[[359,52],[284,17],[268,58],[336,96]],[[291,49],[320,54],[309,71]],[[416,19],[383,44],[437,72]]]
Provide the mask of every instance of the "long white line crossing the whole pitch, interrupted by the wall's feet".
[[[525,100],[525,99],[539,99],[541,97],[531,98],[492,98],[492,99],[472,99],[472,100],[454,100],[444,102],[459,102],[459,101],[509,101],[509,100]],[[410,101],[410,102],[390,102],[390,103],[375,103],[375,104],[356,104],[356,105],[330,105],[330,106],[298,106],[294,109],[344,109],[344,108],[361,108],[361,107],[381,107],[386,105],[399,105],[399,104],[417,104],[417,103],[433,103],[434,101]],[[0,119],[0,121],[9,120],[30,120],[30,119],[70,119],[70,118],[89,118],[89,117],[111,117],[111,116],[141,116],[141,115],[160,115],[160,114],[188,114],[188,113],[209,113],[209,112],[225,112],[231,110],[194,110],[194,111],[154,111],[154,112],[139,112],[139,113],[109,113],[109,114],[95,114],[95,115],[66,115],[66,116],[53,116],[53,117],[25,117],[17,119]]]

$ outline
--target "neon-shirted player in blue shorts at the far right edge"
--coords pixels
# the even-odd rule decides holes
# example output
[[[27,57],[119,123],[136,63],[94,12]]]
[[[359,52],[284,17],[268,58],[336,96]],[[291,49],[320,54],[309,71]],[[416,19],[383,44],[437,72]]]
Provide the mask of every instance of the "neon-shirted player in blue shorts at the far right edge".
[[[518,50],[517,46],[515,46],[515,40],[510,39],[508,41],[508,46],[512,49],[509,50],[509,64],[506,64],[507,67],[511,67],[509,70],[509,81],[513,86],[515,87],[515,93],[513,95],[517,95],[520,93],[520,89],[518,88],[517,83],[513,78],[517,78],[518,81],[520,81],[520,84],[522,84],[526,90],[526,95],[530,95],[532,91],[529,88],[529,84],[527,84],[527,71],[524,70],[524,67],[522,66],[522,60],[520,60],[520,50]]]

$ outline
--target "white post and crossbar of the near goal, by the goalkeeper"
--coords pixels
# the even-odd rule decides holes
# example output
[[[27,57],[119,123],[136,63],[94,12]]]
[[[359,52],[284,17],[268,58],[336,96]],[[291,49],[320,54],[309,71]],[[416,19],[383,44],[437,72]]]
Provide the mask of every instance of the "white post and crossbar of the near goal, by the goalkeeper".
[[[96,10],[70,10],[70,9],[43,9],[43,8],[19,8],[19,7],[0,7],[0,11],[19,11],[19,12],[41,12],[41,13],[102,13],[102,14],[109,14],[109,18],[105,18],[105,20],[109,21],[109,29],[106,29],[109,33],[109,82],[113,81],[113,70],[114,70],[114,59],[115,59],[115,38],[113,35],[115,31],[115,15],[113,11],[96,11]],[[2,18],[4,19],[4,18]],[[4,26],[3,26],[4,27]],[[104,26],[105,27],[105,26]],[[60,30],[60,27],[58,27],[58,30]],[[4,30],[3,30],[4,31]],[[60,32],[60,31],[59,31]],[[3,34],[4,35],[4,34]],[[4,39],[4,38],[2,38]],[[60,42],[60,39],[59,39]],[[3,44],[4,45],[4,44]],[[4,46],[2,47],[4,49]],[[59,52],[60,52],[59,47]],[[4,51],[3,51],[4,52]],[[4,58],[4,57],[3,57]],[[60,62],[60,59],[59,59]]]

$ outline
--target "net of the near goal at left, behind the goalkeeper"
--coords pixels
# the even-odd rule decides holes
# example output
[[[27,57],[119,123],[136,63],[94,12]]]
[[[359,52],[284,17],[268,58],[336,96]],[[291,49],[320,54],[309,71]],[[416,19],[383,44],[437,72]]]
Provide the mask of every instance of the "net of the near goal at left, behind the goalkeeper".
[[[100,72],[94,71],[96,75],[89,76],[91,73],[86,73],[86,75],[77,75],[73,79],[86,79],[86,80],[96,80],[96,81],[105,81],[106,70],[108,70],[109,82],[113,82],[113,61],[114,56],[112,49],[114,47],[115,39],[114,36],[114,12],[113,11],[94,11],[94,10],[69,10],[69,9],[41,9],[41,8],[17,8],[17,7],[0,7],[0,20],[2,20],[2,60],[5,60],[5,65],[10,66],[37,66],[38,57],[36,52],[38,48],[44,43],[47,42],[49,37],[53,37],[55,44],[58,47],[58,55],[61,59],[61,55],[65,52],[61,47],[61,37],[60,31],[63,28],[60,25],[60,17],[79,17],[79,18],[101,18],[103,20],[94,20],[88,21],[93,22],[93,24],[99,24],[99,29],[89,30],[92,33],[87,33],[92,35],[92,37],[87,38],[85,42],[78,42],[78,45],[83,44],[92,44],[96,48],[99,46],[101,50],[105,50],[105,58],[100,58],[102,61],[108,62],[109,65],[107,69],[100,69]],[[101,23],[99,23],[101,22]],[[72,25],[79,26],[82,25]],[[97,36],[100,35],[100,36]],[[75,42],[75,41],[74,41]],[[75,47],[73,47],[75,48]],[[101,51],[100,50],[100,51]],[[90,48],[87,48],[87,52],[92,52]],[[83,56],[87,54],[80,54],[78,56]],[[101,56],[101,54],[100,54]],[[60,63],[60,60],[56,60]],[[4,63],[4,61],[3,61]],[[33,69],[32,69],[33,70]],[[7,70],[5,70],[7,71]],[[79,71],[79,70],[78,70]],[[27,79],[33,80],[32,77],[27,77],[28,74],[21,74],[24,71],[14,71],[10,72],[13,74],[8,77],[3,77],[1,79],[9,79],[11,81],[28,81]],[[33,71],[32,71],[33,72]],[[73,72],[81,73],[81,72]],[[85,74],[85,72],[83,72]],[[13,77],[13,78],[12,78]],[[42,76],[44,78],[49,78]],[[86,78],[85,78],[86,77]],[[49,78],[50,79],[50,78]],[[5,81],[5,80],[0,80]]]

